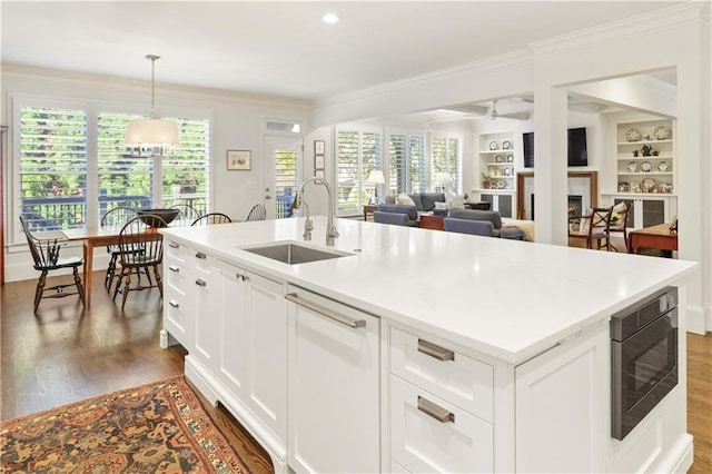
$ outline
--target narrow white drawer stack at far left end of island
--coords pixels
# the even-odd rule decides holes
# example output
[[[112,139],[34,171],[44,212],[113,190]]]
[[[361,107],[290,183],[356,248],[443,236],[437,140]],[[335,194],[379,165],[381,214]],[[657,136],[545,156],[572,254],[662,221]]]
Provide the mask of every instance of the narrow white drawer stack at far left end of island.
[[[192,349],[192,289],[195,260],[190,249],[177,241],[164,241],[164,328],[160,346],[176,343]]]

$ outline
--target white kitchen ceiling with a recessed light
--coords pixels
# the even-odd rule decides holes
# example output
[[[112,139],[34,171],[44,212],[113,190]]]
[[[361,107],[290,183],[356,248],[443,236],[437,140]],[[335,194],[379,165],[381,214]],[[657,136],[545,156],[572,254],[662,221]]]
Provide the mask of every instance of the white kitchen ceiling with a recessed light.
[[[150,53],[159,83],[323,100],[676,3],[3,0],[1,58],[148,80]]]

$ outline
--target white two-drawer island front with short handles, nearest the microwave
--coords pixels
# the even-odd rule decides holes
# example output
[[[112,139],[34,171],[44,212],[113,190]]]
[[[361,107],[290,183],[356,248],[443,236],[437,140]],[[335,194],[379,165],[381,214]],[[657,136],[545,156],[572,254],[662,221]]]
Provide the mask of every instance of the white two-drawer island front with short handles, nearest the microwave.
[[[494,367],[390,327],[392,465],[407,472],[493,472]]]

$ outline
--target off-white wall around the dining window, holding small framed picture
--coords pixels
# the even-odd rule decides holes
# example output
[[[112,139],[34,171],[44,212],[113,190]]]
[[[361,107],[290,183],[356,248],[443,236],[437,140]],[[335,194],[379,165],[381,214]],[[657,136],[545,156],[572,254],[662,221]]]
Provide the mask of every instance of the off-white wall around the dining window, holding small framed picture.
[[[12,100],[17,95],[48,98],[67,98],[87,101],[121,103],[136,110],[150,111],[150,83],[129,81],[100,76],[68,73],[42,69],[30,69],[2,65],[2,95],[0,117],[10,129],[8,140],[8,160],[2,164],[6,177],[6,279],[36,278],[31,268],[31,258],[27,243],[13,244],[19,223],[17,215],[10,211],[12,206],[12,162],[16,146],[13,144]],[[257,97],[188,87],[156,85],[156,103],[159,113],[174,110],[194,110],[211,118],[210,155],[214,169],[212,209],[227,214],[235,219],[247,217],[249,209],[264,201],[263,192],[263,145],[265,119],[299,121],[309,132],[312,103],[279,97]],[[226,150],[251,150],[249,171],[227,171]],[[305,154],[313,160],[313,155]],[[308,169],[305,169],[308,172]],[[313,172],[313,170],[312,170]],[[73,248],[76,255],[80,248]],[[97,253],[103,257],[106,251]],[[101,268],[102,261],[96,261],[95,268]]]

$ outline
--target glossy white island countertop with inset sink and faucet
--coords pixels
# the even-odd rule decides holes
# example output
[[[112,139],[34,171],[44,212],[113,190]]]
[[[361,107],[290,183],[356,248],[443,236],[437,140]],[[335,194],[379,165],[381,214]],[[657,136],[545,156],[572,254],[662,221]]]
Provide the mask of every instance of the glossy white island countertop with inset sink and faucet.
[[[696,264],[337,219],[353,256],[287,265],[241,250],[313,240],[304,219],[161,229],[225,261],[517,364],[691,273]],[[358,250],[358,251],[355,251]]]

